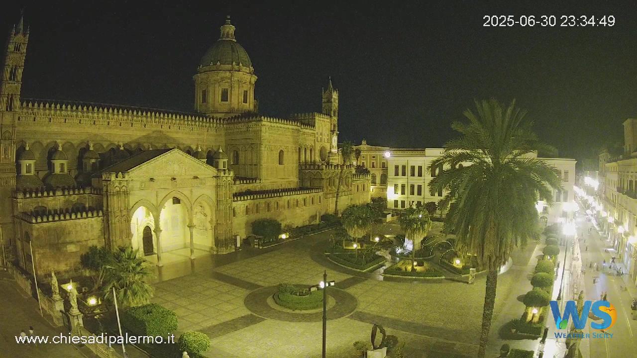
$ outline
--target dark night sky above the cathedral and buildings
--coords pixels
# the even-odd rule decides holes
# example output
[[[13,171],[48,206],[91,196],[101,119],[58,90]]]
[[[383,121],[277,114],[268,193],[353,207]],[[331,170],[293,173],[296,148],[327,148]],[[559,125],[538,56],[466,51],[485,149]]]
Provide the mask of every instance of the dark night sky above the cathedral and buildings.
[[[231,5],[229,5],[231,3]],[[563,156],[620,141],[637,116],[637,6],[596,1],[27,1],[23,97],[190,111],[225,15],[252,58],[260,111],[320,111],[341,140],[440,147],[473,99],[516,98]],[[8,31],[23,4],[3,3]],[[614,15],[614,27],[483,27],[484,15]]]

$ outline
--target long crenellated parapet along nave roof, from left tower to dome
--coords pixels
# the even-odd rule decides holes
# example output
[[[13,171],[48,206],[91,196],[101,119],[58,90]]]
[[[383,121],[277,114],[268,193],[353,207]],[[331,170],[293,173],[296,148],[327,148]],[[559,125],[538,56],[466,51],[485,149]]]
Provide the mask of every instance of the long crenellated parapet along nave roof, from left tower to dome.
[[[219,127],[224,123],[222,118],[207,117],[199,113],[104,103],[47,101],[43,99],[24,99],[21,111],[20,121],[34,121],[38,117],[44,117],[49,122],[75,124],[113,125],[111,122],[118,122],[120,125],[127,123],[189,125],[196,127]]]

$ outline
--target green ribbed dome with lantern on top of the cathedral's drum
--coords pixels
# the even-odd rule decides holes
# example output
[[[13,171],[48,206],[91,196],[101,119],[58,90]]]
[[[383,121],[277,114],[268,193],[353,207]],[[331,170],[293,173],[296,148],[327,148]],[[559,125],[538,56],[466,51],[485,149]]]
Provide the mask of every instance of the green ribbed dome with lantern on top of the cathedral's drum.
[[[230,24],[230,18],[225,20],[221,27],[221,36],[201,57],[200,66],[214,66],[216,64],[240,65],[251,68],[252,61],[246,52],[234,38],[234,25]]]

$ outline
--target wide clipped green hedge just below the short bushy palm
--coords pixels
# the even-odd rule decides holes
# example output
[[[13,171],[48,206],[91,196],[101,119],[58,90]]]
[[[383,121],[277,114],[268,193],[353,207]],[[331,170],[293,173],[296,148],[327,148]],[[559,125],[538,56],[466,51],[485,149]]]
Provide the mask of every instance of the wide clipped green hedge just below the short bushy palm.
[[[126,310],[122,326],[139,336],[168,336],[177,330],[177,315],[159,304],[144,304]]]

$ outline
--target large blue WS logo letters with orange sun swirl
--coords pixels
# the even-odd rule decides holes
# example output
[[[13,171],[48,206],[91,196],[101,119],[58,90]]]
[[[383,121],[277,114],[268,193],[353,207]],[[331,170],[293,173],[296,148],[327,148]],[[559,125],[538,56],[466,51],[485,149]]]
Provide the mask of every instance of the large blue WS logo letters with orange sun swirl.
[[[568,329],[569,317],[573,320],[573,326],[576,329],[584,329],[590,311],[592,311],[593,315],[603,320],[602,323],[590,322],[590,327],[594,329],[608,329],[617,322],[617,311],[608,301],[595,301],[592,304],[590,301],[584,301],[582,315],[578,314],[575,301],[566,301],[563,315],[559,311],[557,301],[550,301],[550,306],[557,329]]]

